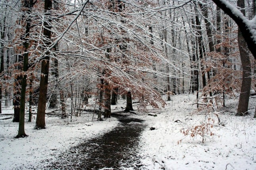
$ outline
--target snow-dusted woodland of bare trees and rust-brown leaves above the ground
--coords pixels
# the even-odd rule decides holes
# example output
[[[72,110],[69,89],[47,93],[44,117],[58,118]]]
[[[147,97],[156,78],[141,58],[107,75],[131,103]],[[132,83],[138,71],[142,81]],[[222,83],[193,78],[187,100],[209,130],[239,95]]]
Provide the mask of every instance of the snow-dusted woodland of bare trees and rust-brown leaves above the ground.
[[[247,115],[255,14],[255,0],[1,0],[0,107],[13,106],[17,138],[27,114],[37,130],[46,109],[72,119],[92,108],[102,121],[120,98],[146,112],[184,93],[198,108],[237,96]]]

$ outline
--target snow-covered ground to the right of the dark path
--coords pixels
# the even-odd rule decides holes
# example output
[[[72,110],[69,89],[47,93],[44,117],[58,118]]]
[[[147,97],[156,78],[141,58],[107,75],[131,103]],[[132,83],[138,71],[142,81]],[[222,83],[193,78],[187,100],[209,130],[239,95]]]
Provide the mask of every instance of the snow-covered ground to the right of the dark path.
[[[222,126],[216,114],[196,111],[196,105],[191,105],[192,95],[173,96],[173,102],[168,102],[161,114],[145,118],[155,130],[148,128],[141,136],[141,169],[256,170],[255,99],[250,98],[251,115],[246,117],[234,116],[237,100],[227,100],[227,107],[214,112]],[[181,133],[183,128],[208,123],[208,118],[215,120],[210,128],[214,135],[206,135],[204,143],[199,135],[192,138]]]

